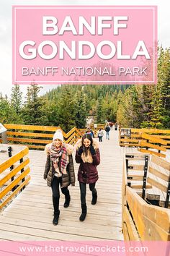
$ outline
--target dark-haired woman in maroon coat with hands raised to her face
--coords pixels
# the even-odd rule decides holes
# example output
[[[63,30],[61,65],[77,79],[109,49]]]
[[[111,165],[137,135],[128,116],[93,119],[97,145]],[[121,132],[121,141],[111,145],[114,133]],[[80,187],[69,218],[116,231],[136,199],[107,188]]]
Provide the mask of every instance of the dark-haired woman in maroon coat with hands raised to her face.
[[[99,143],[91,135],[85,134],[76,144],[76,163],[80,163],[78,180],[81,192],[81,216],[80,221],[86,218],[86,184],[92,192],[91,204],[97,203],[97,189],[95,188],[98,180],[97,166],[100,163]]]

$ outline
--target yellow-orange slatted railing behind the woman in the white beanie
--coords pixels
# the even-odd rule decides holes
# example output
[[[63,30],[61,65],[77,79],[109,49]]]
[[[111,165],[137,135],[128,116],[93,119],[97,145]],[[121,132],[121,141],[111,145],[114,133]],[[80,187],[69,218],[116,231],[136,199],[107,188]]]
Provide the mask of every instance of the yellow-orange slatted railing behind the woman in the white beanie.
[[[52,142],[56,129],[61,129],[60,127],[22,124],[4,124],[4,127],[7,129],[6,134],[9,143],[24,144],[29,148],[36,149],[44,149],[46,144]],[[66,143],[73,145],[81,137],[81,132],[73,127],[68,133],[63,132],[63,137]]]

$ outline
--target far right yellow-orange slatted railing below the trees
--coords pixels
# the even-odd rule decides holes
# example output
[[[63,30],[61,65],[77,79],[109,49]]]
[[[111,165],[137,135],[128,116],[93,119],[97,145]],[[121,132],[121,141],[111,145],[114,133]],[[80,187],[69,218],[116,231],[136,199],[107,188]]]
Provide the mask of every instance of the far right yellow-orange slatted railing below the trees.
[[[121,147],[137,147],[140,152],[155,154],[166,157],[164,153],[170,148],[170,130],[169,129],[127,129],[129,134],[125,134],[120,129],[119,141]],[[152,149],[152,150],[150,150]],[[157,150],[157,152],[156,152]]]

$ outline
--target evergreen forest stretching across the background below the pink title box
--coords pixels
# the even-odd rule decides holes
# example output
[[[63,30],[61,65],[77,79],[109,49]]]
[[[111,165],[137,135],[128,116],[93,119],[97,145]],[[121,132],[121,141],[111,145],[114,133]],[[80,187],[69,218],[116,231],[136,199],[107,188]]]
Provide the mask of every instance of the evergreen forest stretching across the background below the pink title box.
[[[86,117],[121,127],[170,129],[170,48],[158,49],[157,85],[58,85],[40,96],[41,86],[14,85],[11,97],[0,93],[2,124],[84,128]]]

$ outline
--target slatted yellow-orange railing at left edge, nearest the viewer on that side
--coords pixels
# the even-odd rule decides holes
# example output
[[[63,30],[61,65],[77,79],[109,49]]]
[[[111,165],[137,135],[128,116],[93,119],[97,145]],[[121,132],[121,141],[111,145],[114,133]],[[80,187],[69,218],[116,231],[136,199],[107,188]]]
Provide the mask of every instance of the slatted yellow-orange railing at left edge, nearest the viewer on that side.
[[[11,158],[0,163],[0,210],[30,181],[30,167],[27,166],[30,162],[27,157],[29,150],[27,147],[21,148]]]

